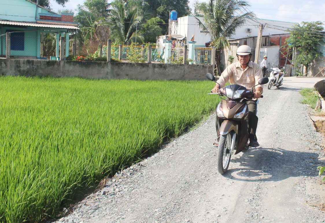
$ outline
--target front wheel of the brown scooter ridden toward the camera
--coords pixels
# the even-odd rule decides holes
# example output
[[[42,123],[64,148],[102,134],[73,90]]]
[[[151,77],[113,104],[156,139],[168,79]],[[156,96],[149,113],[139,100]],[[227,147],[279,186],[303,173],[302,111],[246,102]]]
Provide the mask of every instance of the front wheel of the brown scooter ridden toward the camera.
[[[221,174],[226,173],[229,167],[230,157],[231,157],[230,146],[231,146],[230,133],[228,133],[227,135],[221,135],[219,139],[218,156],[217,156],[218,172]]]

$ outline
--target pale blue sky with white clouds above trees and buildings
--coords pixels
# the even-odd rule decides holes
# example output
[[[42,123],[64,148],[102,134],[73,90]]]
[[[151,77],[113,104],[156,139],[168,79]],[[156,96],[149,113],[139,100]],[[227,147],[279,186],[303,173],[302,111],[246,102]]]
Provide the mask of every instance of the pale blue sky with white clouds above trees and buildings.
[[[195,1],[207,2],[208,0],[189,0],[189,6],[192,7]],[[65,7],[56,4],[55,0],[50,2],[55,12],[58,9],[72,9],[76,14],[77,5],[82,5],[84,0],[70,0]],[[297,23],[321,21],[325,24],[325,1],[323,0],[247,0],[247,2],[251,5],[247,9],[254,12],[258,18]]]

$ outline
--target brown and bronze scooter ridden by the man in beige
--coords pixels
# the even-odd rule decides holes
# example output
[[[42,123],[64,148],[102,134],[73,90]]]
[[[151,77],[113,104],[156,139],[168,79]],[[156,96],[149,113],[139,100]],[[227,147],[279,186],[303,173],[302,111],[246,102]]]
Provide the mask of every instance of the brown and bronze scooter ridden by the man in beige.
[[[216,82],[211,73],[207,73],[206,76],[209,80]],[[267,82],[268,78],[264,77],[259,80],[258,84]],[[210,94],[227,97],[227,99],[222,99],[215,109],[216,123],[220,131],[217,165],[219,173],[224,174],[228,170],[231,155],[248,149],[248,107],[246,102],[253,98],[254,93],[253,90],[249,91],[241,85],[230,84],[221,88],[219,93]]]

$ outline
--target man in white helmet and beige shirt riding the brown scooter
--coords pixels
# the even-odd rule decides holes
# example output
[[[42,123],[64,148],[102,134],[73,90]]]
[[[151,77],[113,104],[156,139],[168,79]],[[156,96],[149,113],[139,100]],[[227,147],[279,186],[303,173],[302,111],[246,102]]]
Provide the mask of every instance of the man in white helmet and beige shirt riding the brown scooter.
[[[220,88],[225,87],[225,84],[229,81],[230,84],[239,84],[252,90],[254,85],[258,84],[258,81],[263,78],[262,69],[259,64],[250,62],[252,58],[252,49],[247,45],[241,45],[237,49],[238,62],[230,64],[224,72],[222,72],[219,80],[212,89],[213,93],[218,93]],[[254,90],[254,89],[253,89]],[[263,93],[263,86],[257,85],[254,91],[253,100],[247,102],[249,117],[248,117],[248,129],[249,129],[249,146],[258,147],[259,143],[256,138],[256,128],[258,118],[256,116],[257,111],[257,99],[261,97]],[[215,127],[219,136],[218,123],[215,123]],[[214,143],[214,146],[218,146],[218,143]]]

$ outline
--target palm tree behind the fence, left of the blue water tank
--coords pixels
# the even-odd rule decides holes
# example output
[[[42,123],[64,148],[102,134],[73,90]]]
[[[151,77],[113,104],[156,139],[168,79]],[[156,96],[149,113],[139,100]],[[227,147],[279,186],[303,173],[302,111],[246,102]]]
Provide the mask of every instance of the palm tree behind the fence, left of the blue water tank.
[[[143,35],[137,25],[143,20],[140,8],[126,8],[123,3],[111,10],[109,17],[111,27],[111,39],[115,43],[130,44],[131,42],[143,42]]]

